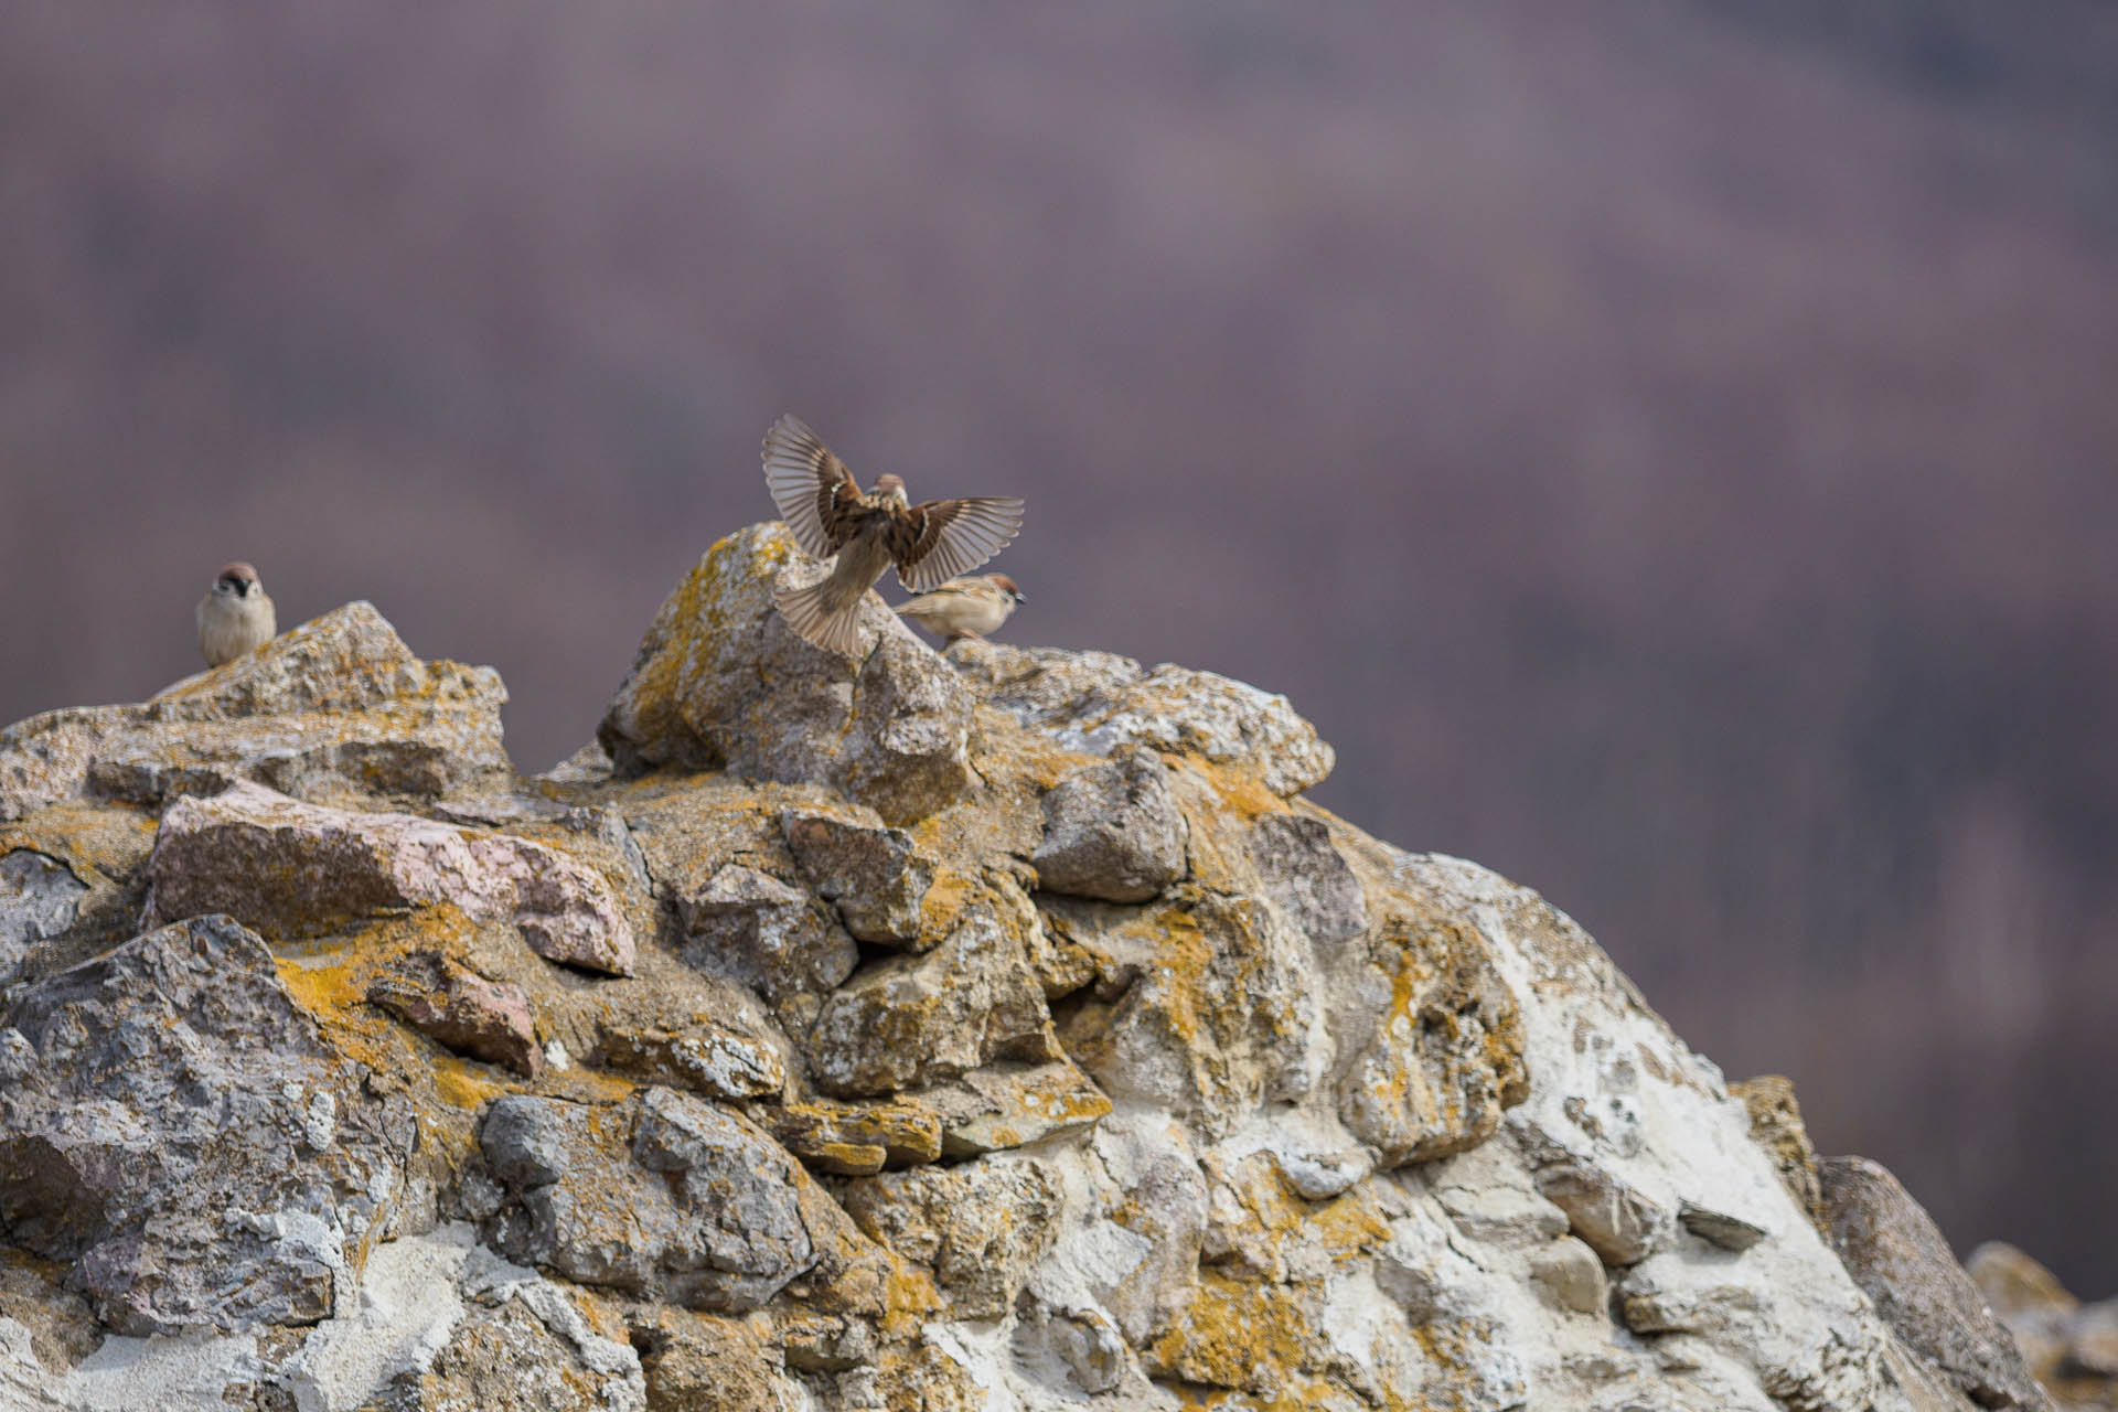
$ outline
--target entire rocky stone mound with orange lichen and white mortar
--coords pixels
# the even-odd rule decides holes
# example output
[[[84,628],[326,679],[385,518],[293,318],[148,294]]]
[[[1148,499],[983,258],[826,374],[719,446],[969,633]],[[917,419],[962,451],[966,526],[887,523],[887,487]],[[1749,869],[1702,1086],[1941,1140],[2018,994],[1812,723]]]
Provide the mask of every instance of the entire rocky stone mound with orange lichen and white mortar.
[[[546,777],[366,605],[0,732],[0,1406],[2050,1406],[1284,696],[803,572],[716,544]]]

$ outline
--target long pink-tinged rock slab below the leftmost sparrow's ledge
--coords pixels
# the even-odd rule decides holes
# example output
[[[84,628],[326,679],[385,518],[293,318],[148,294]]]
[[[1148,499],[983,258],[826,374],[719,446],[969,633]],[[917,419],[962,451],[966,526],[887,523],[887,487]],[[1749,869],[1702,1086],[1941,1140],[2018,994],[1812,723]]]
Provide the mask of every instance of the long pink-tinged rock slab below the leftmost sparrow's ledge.
[[[318,936],[436,902],[513,923],[546,961],[633,970],[633,934],[602,874],[510,834],[237,783],[172,804],[148,859],[146,925],[227,912],[265,936]]]

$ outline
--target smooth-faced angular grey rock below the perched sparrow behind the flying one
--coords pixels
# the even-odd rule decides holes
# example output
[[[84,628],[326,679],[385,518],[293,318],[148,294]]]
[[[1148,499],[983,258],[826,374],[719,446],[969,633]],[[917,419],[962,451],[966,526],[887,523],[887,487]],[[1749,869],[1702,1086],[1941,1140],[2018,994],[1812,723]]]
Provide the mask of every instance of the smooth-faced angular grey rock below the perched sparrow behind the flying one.
[[[1150,749],[1074,771],[1044,796],[1044,843],[1029,855],[1038,887],[1146,902],[1184,876],[1184,815]]]

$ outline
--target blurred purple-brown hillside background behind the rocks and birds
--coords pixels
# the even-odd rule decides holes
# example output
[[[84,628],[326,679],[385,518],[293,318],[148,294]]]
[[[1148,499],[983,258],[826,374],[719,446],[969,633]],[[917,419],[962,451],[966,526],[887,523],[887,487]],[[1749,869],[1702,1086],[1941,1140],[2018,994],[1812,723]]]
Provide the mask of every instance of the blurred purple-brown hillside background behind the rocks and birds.
[[[798,411],[2118,1287],[2118,11],[1038,8],[0,8],[0,718],[248,557],[542,768]]]

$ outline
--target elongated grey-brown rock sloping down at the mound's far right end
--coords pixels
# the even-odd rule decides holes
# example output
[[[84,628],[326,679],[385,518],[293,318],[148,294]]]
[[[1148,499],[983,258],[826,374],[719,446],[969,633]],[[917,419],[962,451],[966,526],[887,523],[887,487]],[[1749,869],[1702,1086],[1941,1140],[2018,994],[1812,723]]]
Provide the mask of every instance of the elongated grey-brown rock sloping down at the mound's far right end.
[[[1904,1342],[1982,1408],[2048,1410],[2023,1351],[1913,1194],[1868,1158],[1819,1164],[1832,1249]]]

